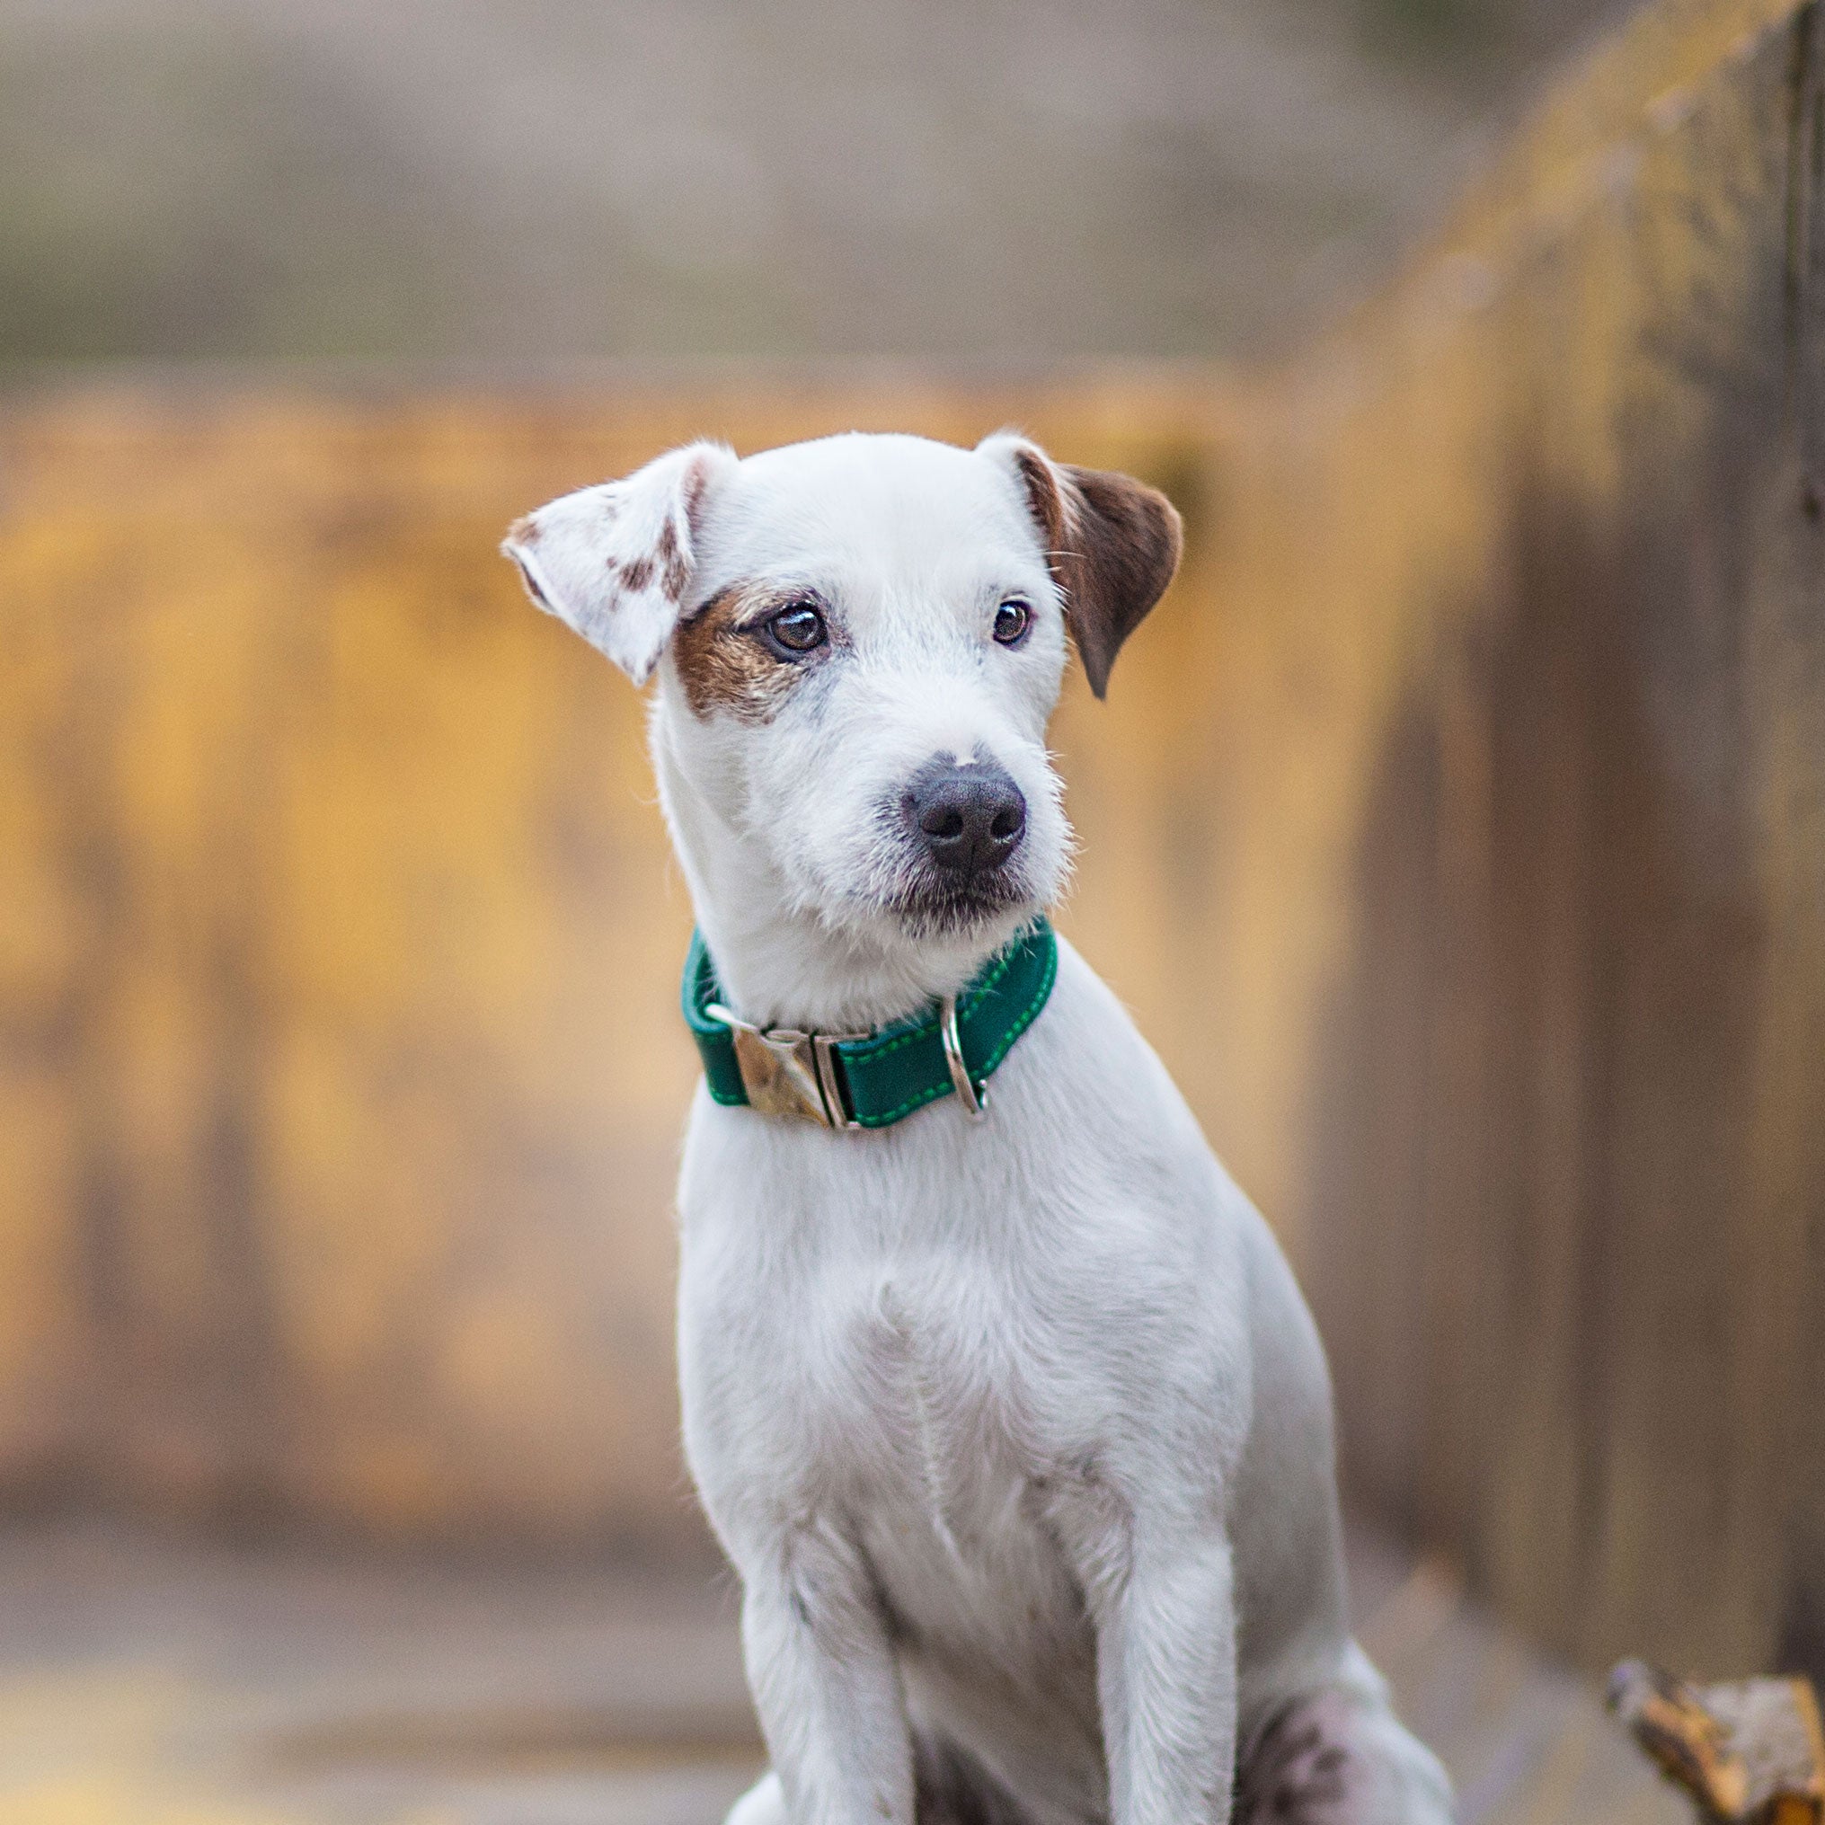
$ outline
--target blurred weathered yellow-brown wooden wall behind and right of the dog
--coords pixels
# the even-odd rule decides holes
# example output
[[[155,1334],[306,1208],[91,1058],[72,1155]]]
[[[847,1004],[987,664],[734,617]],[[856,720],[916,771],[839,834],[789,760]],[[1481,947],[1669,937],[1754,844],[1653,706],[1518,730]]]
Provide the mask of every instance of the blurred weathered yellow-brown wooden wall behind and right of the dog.
[[[0,425],[0,1484],[701,1551],[688,909],[500,527],[1018,422],[1190,566],[1068,925],[1319,1307],[1363,1500],[1586,1661],[1825,1661],[1821,27],[1652,5],[1281,372],[122,387]]]

